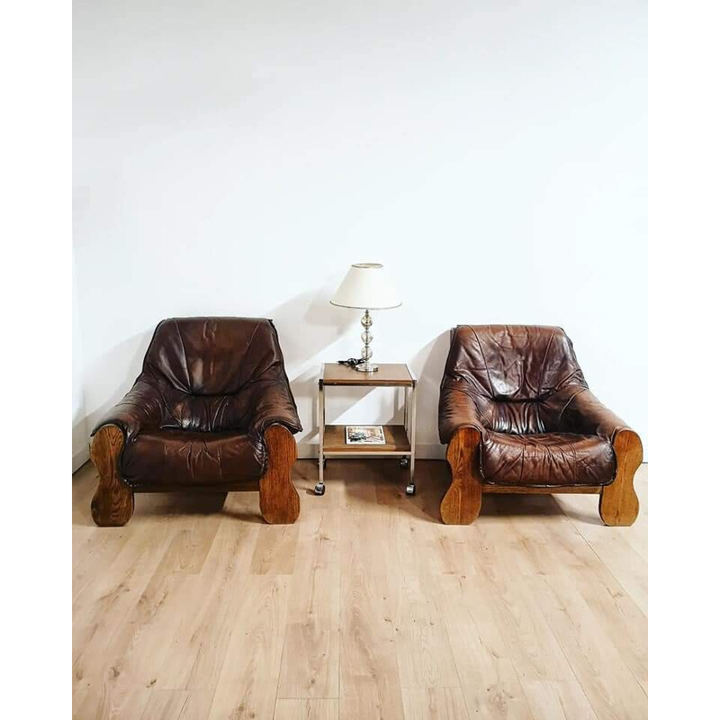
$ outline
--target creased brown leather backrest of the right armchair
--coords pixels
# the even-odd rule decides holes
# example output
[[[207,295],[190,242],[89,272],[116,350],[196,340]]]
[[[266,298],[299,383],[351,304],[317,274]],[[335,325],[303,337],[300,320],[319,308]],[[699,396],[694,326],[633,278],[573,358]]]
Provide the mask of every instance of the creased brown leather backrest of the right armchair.
[[[555,429],[563,398],[587,383],[562,328],[460,325],[444,383],[471,394],[491,430],[516,434]]]

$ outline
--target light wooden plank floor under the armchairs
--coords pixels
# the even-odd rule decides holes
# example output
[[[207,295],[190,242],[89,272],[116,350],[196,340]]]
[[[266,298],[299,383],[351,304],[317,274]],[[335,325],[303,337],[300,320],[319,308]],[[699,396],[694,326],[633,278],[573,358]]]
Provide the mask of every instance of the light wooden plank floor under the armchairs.
[[[139,495],[94,527],[73,477],[74,717],[121,720],[620,720],[647,716],[647,466],[634,527],[598,497],[438,506],[446,464],[405,497],[392,460],[295,466],[302,511],[257,494]]]

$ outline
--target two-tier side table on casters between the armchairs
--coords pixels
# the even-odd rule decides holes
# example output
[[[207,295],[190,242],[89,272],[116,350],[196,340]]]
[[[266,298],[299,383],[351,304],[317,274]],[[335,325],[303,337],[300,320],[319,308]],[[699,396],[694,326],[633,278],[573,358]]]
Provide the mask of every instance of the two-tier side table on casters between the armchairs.
[[[407,365],[378,365],[375,373],[361,373],[355,368],[326,363],[318,383],[318,424],[320,426],[319,482],[316,495],[325,494],[324,470],[328,457],[399,456],[401,467],[407,467],[410,475],[405,492],[415,494],[415,411],[417,408],[418,380]],[[402,425],[383,425],[385,445],[347,445],[344,425],[325,424],[326,387],[391,387],[404,392]]]

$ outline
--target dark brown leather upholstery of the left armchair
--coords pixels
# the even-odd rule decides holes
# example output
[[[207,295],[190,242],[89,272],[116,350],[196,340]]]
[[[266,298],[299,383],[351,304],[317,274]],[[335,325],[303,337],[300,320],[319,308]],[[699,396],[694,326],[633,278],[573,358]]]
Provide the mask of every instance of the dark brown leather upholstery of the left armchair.
[[[275,423],[302,429],[273,323],[176,318],[157,326],[138,379],[93,434],[121,428],[133,490],[220,488],[265,472]]]

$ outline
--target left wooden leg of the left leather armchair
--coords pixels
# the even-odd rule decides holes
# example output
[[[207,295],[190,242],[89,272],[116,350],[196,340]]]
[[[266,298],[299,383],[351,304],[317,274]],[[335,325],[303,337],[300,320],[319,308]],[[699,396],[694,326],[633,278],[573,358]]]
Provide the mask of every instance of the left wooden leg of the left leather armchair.
[[[100,475],[100,482],[90,503],[95,525],[121,527],[135,509],[135,500],[127,482],[122,480],[119,460],[125,438],[115,425],[100,428],[90,446],[90,459]]]

